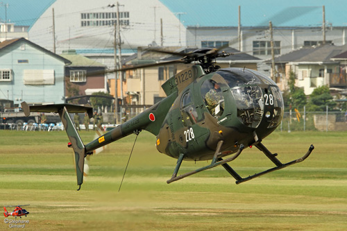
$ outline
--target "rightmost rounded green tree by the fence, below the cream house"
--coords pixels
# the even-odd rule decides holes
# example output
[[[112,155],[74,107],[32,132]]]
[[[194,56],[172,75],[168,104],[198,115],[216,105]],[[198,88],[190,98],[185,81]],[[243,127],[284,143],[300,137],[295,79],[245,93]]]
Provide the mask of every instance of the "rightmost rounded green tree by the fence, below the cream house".
[[[312,112],[323,112],[326,106],[332,110],[336,106],[336,102],[332,101],[330,89],[327,85],[317,87],[310,95],[310,101],[307,104],[307,110]]]

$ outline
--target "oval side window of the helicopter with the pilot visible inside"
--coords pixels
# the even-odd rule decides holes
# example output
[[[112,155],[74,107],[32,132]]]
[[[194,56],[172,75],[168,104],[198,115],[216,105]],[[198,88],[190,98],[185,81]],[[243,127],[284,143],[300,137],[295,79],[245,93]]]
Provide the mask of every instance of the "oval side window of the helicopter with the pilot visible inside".
[[[201,85],[201,95],[206,108],[213,117],[220,117],[224,110],[224,97],[221,86],[214,80],[205,80]]]

